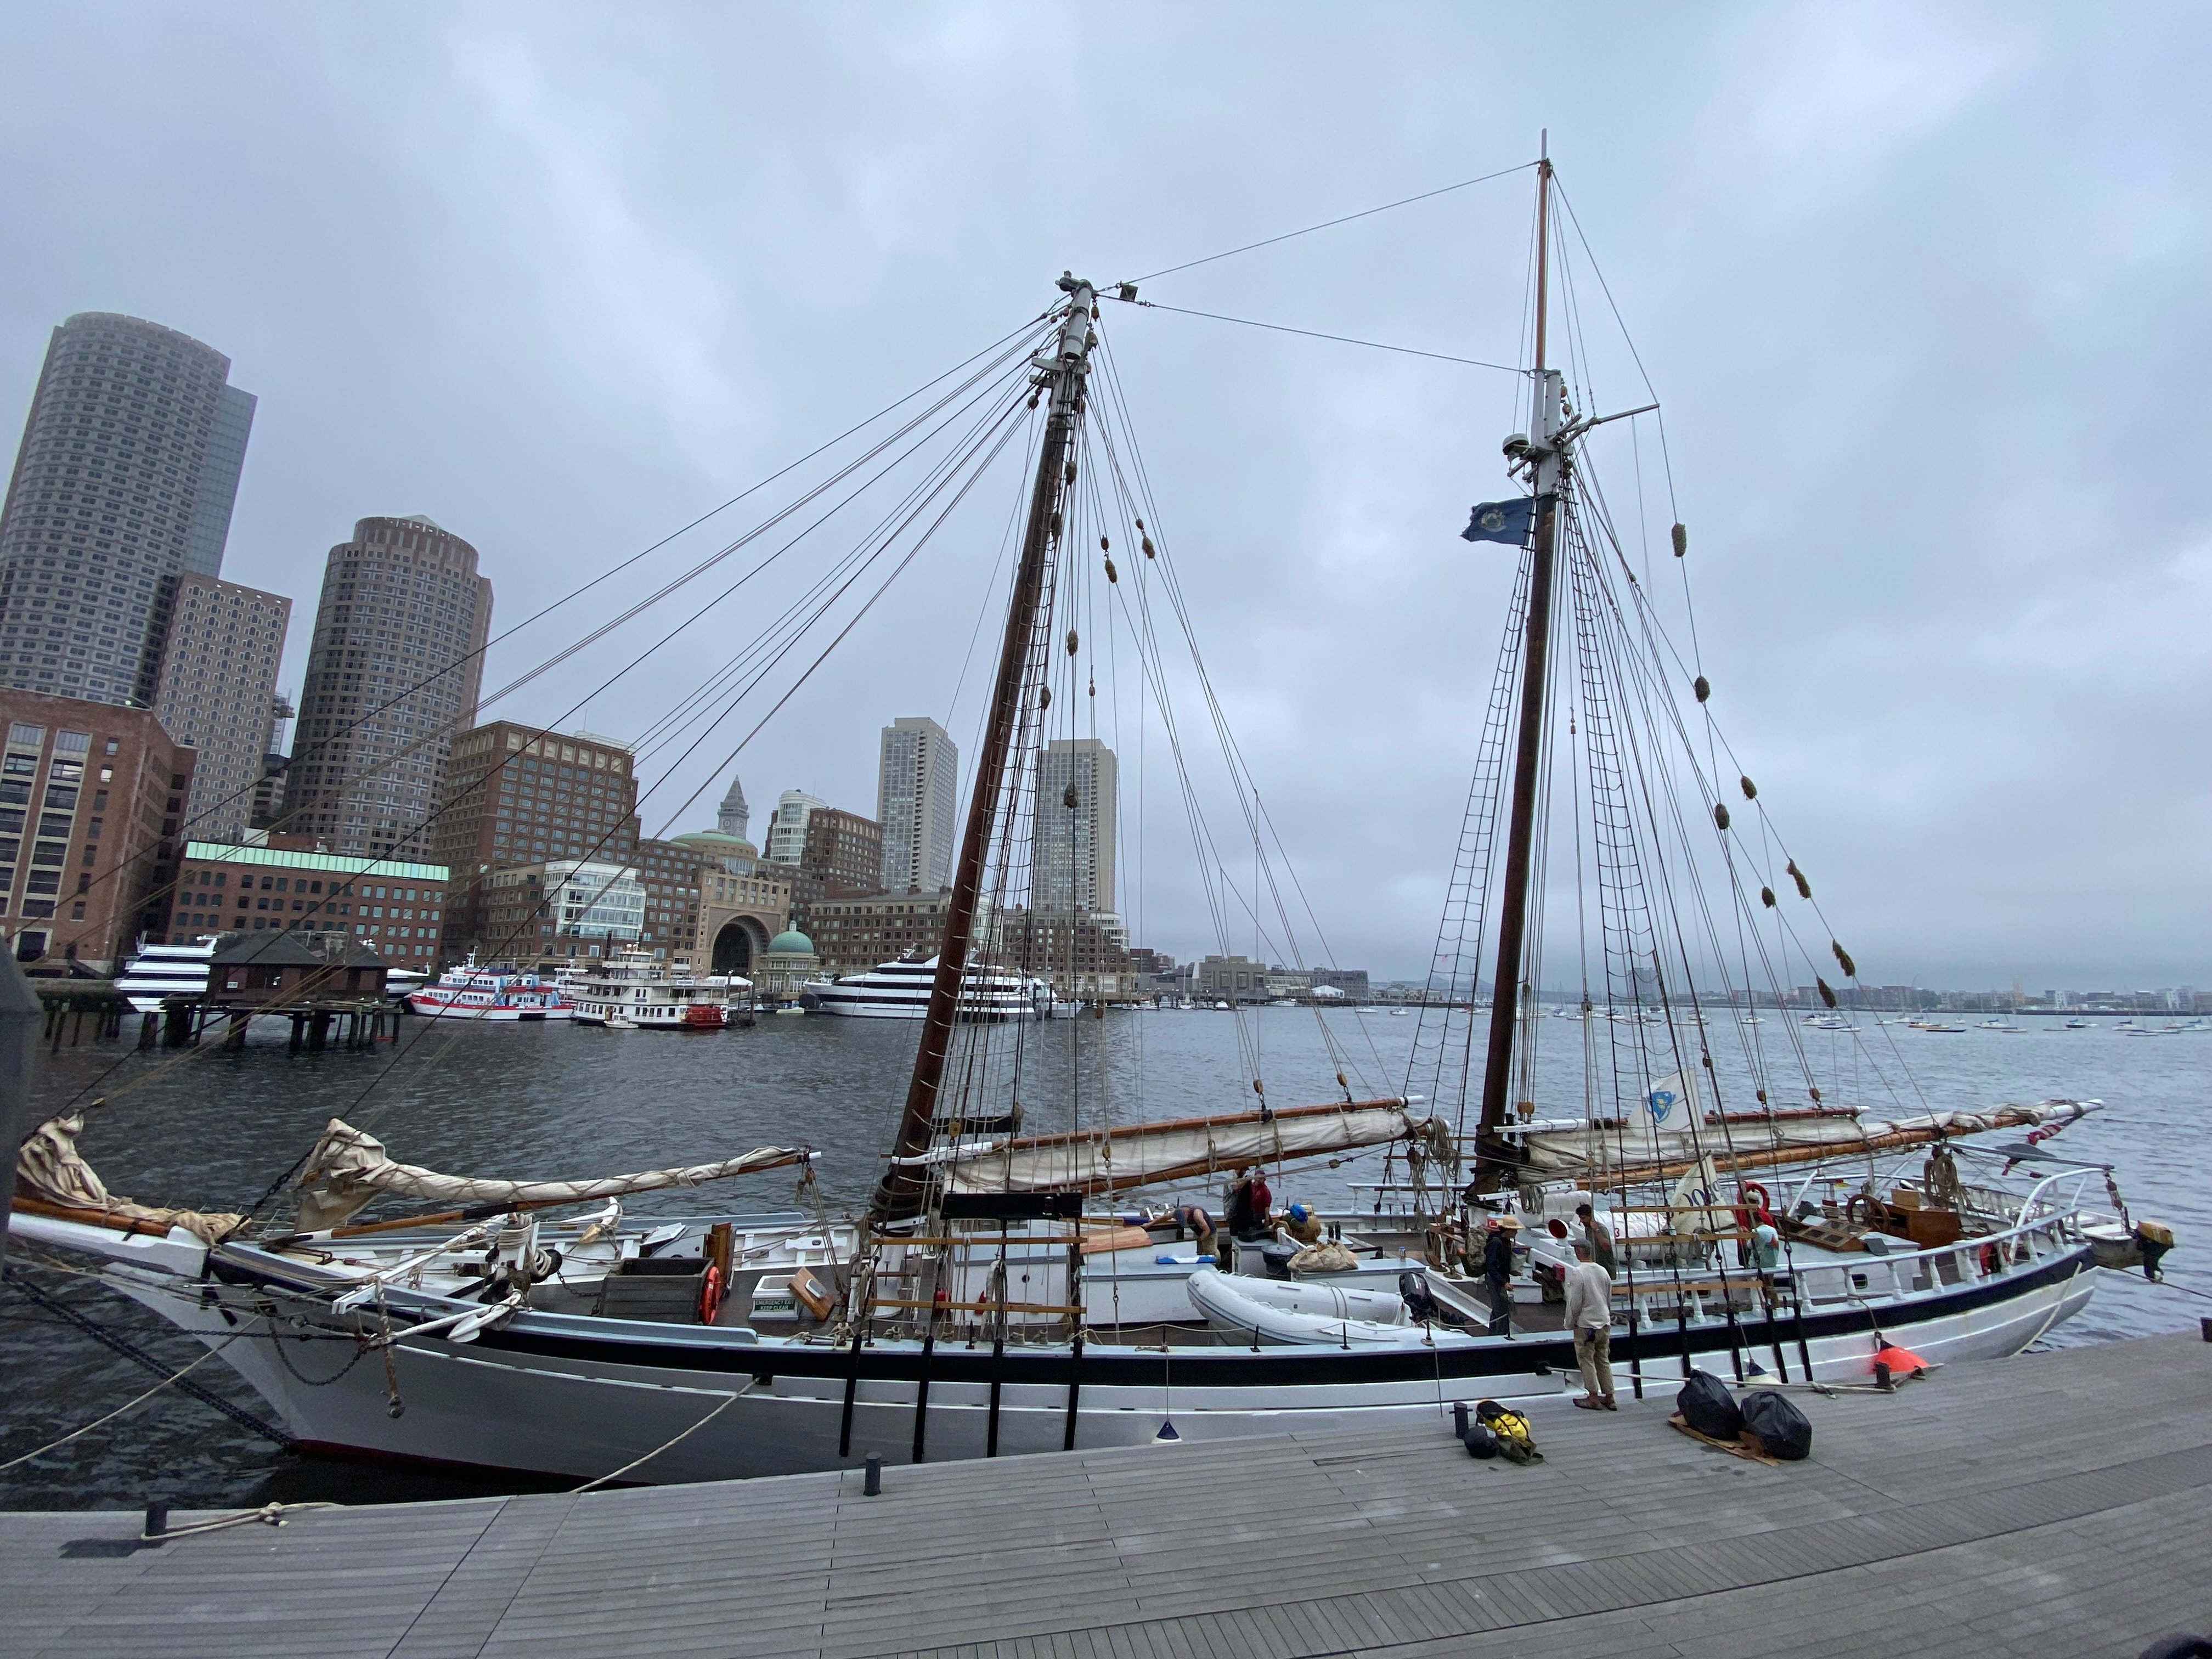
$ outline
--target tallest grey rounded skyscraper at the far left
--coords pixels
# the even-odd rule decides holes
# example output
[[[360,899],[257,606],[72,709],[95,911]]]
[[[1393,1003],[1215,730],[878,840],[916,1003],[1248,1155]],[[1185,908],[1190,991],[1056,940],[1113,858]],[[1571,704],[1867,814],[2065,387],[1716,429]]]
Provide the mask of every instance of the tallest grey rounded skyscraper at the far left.
[[[53,330],[0,509],[0,686],[150,708],[186,571],[223,568],[254,398],[135,316]]]

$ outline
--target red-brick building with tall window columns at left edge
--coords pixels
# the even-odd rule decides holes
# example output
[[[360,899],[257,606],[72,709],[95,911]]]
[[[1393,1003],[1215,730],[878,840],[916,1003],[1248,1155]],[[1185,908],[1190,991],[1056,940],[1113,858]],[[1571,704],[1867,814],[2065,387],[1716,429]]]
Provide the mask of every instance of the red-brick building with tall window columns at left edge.
[[[197,754],[148,710],[0,688],[0,936],[111,973],[161,936]]]

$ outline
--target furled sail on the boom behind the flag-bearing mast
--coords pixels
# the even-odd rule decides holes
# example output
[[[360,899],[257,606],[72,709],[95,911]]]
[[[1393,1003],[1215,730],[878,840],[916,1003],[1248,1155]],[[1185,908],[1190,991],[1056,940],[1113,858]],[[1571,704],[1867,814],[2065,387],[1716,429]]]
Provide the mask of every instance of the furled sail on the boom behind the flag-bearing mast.
[[[1672,1079],[1668,1079],[1672,1082]],[[1668,1093],[1659,1110],[1659,1093]],[[1694,1099],[1694,1093],[1690,1093]],[[2097,1102],[2046,1099],[2035,1106],[1991,1106],[1980,1113],[1920,1113],[1893,1119],[1860,1119],[1856,1113],[1710,1113],[1683,1110],[1681,1095],[1655,1091],[1635,1119],[1548,1119],[1506,1124],[1504,1135],[1524,1146],[1522,1181],[1571,1179],[1582,1186],[1655,1181],[1694,1168],[1712,1157],[1719,1170],[1812,1164],[1849,1152],[1887,1152],[1993,1128],[2033,1128],[2055,1135],[2095,1110]]]

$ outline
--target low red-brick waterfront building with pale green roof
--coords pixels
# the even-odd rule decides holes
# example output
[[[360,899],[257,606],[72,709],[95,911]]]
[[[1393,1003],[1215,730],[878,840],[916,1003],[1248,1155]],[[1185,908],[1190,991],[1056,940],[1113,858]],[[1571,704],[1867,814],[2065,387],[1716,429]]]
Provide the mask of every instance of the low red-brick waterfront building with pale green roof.
[[[168,942],[201,933],[334,933],[427,973],[445,929],[445,865],[356,858],[307,836],[265,845],[190,841],[168,914]]]

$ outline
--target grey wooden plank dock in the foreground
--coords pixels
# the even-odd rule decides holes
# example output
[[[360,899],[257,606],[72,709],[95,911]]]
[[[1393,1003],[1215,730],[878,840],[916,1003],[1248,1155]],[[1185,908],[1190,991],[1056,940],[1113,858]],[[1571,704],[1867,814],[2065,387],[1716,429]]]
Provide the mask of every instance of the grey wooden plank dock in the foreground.
[[[115,1553],[139,1515],[0,1515],[0,1652],[2139,1655],[2212,1626],[2212,1345],[1796,1394],[1778,1469],[1617,1416],[1542,1467],[1449,1418],[708,1486],[299,1515]],[[190,1517],[177,1515],[173,1524]],[[108,1553],[100,1553],[108,1551]]]

